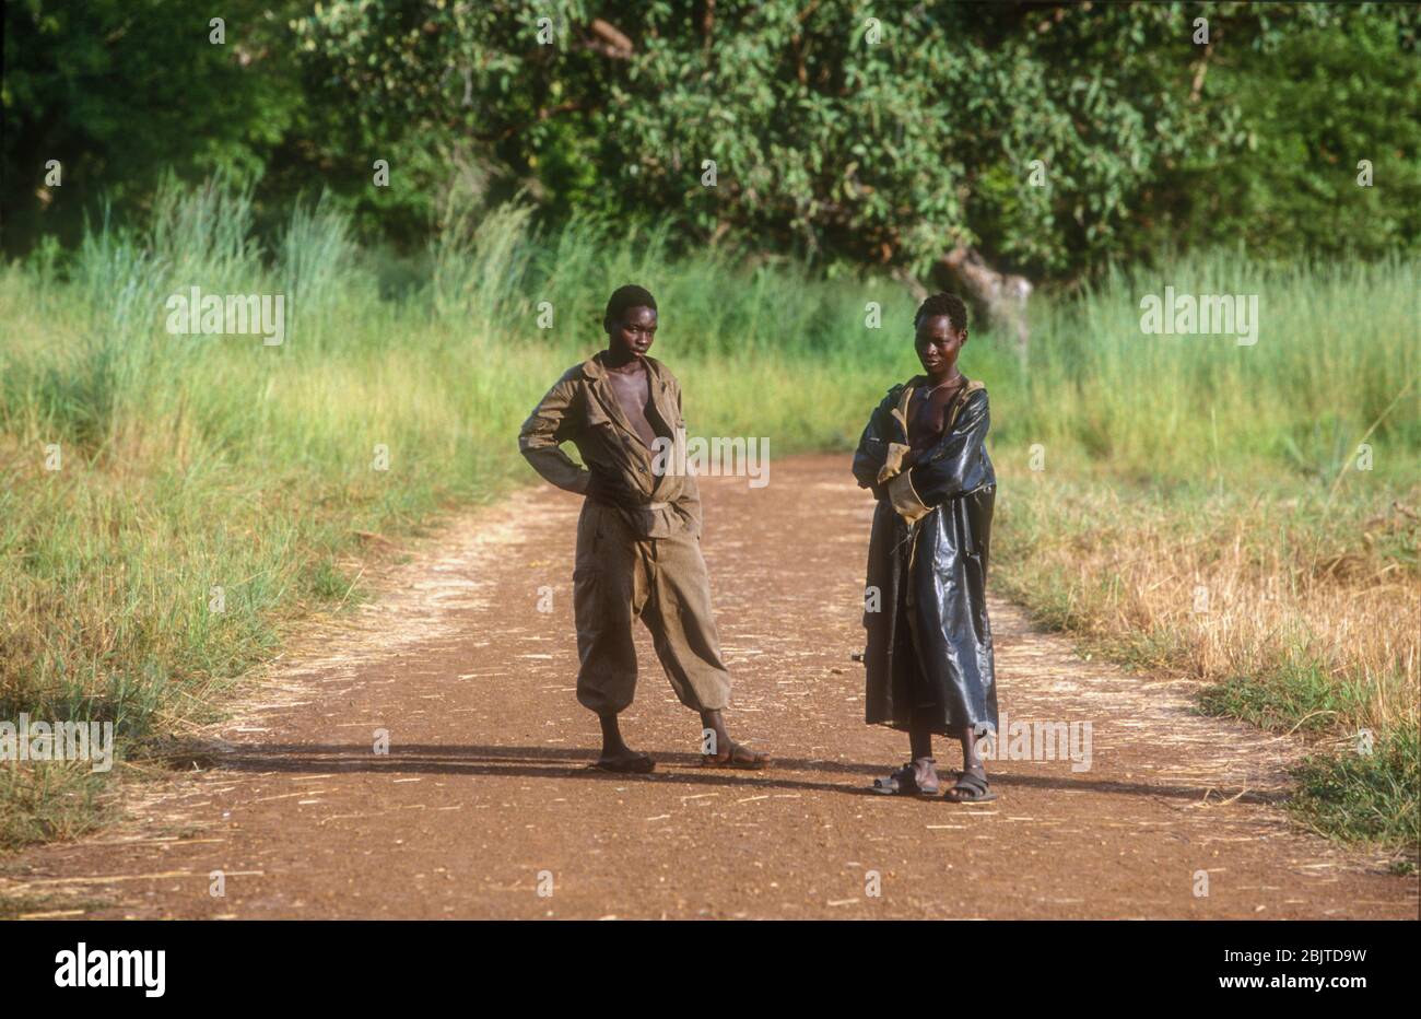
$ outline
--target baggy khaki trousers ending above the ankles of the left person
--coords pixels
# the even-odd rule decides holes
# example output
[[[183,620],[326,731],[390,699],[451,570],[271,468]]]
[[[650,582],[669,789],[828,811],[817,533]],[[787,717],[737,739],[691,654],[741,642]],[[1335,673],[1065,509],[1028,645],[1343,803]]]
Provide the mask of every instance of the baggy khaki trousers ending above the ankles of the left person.
[[[730,674],[710,615],[710,584],[701,541],[681,532],[637,537],[612,507],[583,502],[573,568],[577,618],[577,699],[598,715],[631,705],[637,648],[631,624],[651,631],[657,658],[681,703],[719,711],[730,701]]]

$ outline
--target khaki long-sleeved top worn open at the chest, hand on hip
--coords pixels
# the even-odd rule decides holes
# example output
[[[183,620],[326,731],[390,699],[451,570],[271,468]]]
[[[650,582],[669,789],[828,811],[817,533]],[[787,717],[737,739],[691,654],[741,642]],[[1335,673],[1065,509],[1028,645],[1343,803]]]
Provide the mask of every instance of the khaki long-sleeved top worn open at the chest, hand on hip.
[[[563,372],[519,431],[519,451],[533,469],[560,489],[573,489],[587,468],[621,480],[631,496],[617,505],[638,537],[669,537],[689,532],[701,534],[701,492],[691,473],[655,470],[662,455],[637,435],[617,401],[607,368],[605,351]],[[655,358],[645,358],[651,406],[647,419],[657,435],[674,436],[685,428],[681,416],[681,384]],[[659,419],[659,421],[658,421]],[[578,466],[560,449],[577,446],[587,468]]]

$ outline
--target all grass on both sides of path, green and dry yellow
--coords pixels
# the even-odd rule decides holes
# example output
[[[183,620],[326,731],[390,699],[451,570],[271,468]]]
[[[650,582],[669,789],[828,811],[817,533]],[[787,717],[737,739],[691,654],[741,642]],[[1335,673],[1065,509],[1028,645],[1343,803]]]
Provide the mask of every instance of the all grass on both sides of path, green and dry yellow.
[[[915,371],[914,301],[867,271],[675,254],[591,219],[543,230],[519,205],[452,220],[418,257],[352,237],[325,202],[259,232],[250,192],[169,180],[145,220],[0,271],[0,718],[112,722],[112,775],[215,718],[291,627],[362,597],[379,539],[530,480],[517,426],[598,348],[621,283],[661,303],[655,354],[692,432],[847,451]],[[1162,264],[1039,293],[1025,361],[973,328],[993,580],[1113,658],[1198,681],[1201,709],[1303,736],[1299,819],[1405,858],[1421,264]],[[195,286],[286,294],[286,341],[169,334],[169,294]],[[1259,294],[1258,343],[1142,334],[1140,298],[1165,286]],[[98,823],[104,782],[0,765],[0,844]]]

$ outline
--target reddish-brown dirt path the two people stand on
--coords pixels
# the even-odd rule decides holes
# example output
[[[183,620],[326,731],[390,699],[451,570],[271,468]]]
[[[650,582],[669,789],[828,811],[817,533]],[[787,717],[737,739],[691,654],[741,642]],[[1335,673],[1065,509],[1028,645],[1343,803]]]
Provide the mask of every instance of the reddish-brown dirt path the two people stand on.
[[[1007,716],[1088,721],[1090,770],[996,762],[1002,797],[976,807],[865,792],[907,756],[899,733],[863,725],[850,661],[871,502],[844,458],[776,462],[772,482],[702,487],[732,732],[772,749],[773,770],[693,766],[699,722],[644,632],[624,730],[658,770],[587,769],[578,500],[537,490],[455,522],[354,621],[253,678],[242,713],[205,733],[215,766],[138,789],[95,839],[11,857],[0,894],[82,917],[1417,918],[1415,877],[1287,827],[1292,742],[1194,715],[1179,684],[1083,662],[1002,601]],[[388,756],[372,752],[382,728]]]

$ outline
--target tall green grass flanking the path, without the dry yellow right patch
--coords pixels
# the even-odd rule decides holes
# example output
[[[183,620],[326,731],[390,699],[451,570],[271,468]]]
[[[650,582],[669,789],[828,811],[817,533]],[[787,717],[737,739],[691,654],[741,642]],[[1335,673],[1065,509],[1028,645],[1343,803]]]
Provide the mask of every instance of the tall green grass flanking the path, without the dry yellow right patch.
[[[409,533],[530,480],[517,426],[601,347],[622,283],[657,294],[654,352],[701,433],[848,449],[915,371],[914,304],[885,277],[671,259],[657,230],[540,233],[517,206],[450,222],[391,287],[388,260],[324,202],[263,239],[250,193],[169,182],[148,222],[105,217],[77,250],[41,246],[0,273],[0,718],[115,721],[132,752],[209,716],[301,613],[360,597],[361,533]],[[1142,335],[1140,297],[1167,283],[1259,293],[1258,344]],[[286,294],[284,345],[169,335],[165,300],[192,286]],[[1025,364],[973,327],[962,364],[990,388],[1007,465],[1040,443],[1053,469],[1160,489],[1330,492],[1340,478],[1337,497],[1383,499],[1417,476],[1418,293],[1415,262],[1216,254],[1037,300]],[[1343,476],[1363,436],[1374,469]],[[371,466],[381,445],[388,472]],[[0,840],[41,836],[0,826]]]

